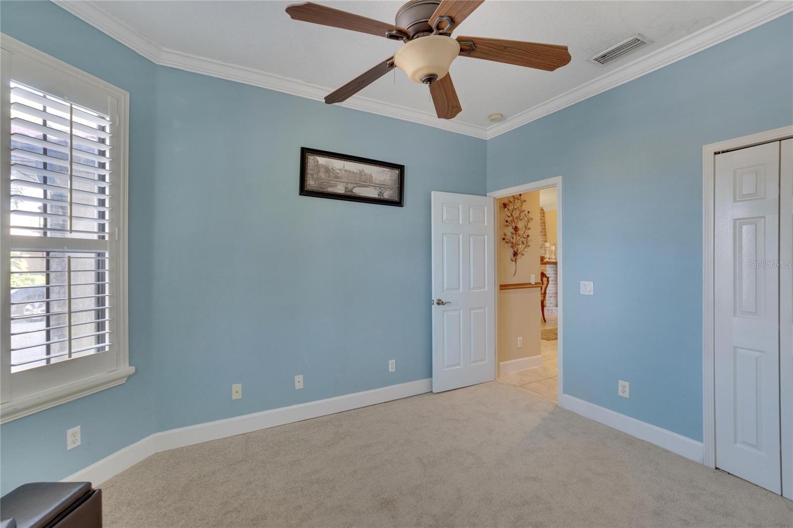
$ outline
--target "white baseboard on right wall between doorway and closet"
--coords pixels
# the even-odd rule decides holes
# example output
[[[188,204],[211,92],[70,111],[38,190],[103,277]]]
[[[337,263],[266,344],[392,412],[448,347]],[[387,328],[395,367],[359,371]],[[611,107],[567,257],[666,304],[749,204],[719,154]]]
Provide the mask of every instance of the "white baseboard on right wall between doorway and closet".
[[[600,405],[590,404],[588,401],[579,400],[568,394],[561,396],[561,407],[588,419],[603,423],[603,425],[613,429],[621,430],[623,433],[635,436],[645,442],[663,447],[665,450],[677,453],[681,457],[686,457],[700,464],[703,463],[703,443],[691,440],[691,438],[682,434],[673,433],[671,430],[642,422],[642,420],[611,411],[605,407],[600,407]]]

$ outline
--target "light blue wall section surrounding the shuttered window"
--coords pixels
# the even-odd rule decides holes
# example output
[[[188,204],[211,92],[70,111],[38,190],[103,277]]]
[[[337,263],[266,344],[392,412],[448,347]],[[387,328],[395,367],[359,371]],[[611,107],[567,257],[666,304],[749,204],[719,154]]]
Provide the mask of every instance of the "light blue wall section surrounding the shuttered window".
[[[116,388],[0,426],[0,491],[29,480],[60,480],[155,432],[151,310],[151,218],[155,148],[155,65],[50,2],[0,2],[0,30],[128,90],[129,361],[137,372]],[[66,451],[66,430],[82,446]]]

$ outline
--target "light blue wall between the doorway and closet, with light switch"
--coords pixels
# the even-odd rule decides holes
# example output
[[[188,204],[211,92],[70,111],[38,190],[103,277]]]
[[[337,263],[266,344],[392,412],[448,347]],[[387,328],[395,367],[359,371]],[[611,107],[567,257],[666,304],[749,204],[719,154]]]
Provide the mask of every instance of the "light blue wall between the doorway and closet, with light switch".
[[[488,141],[488,191],[562,177],[566,394],[702,440],[702,147],[793,124],[791,43],[788,14]]]

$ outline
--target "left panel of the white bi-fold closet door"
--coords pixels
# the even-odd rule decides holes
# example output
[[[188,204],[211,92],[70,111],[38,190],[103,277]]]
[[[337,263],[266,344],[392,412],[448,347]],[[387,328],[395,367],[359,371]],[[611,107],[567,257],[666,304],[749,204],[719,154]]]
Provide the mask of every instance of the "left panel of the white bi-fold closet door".
[[[780,493],[780,142],[715,180],[716,467]]]

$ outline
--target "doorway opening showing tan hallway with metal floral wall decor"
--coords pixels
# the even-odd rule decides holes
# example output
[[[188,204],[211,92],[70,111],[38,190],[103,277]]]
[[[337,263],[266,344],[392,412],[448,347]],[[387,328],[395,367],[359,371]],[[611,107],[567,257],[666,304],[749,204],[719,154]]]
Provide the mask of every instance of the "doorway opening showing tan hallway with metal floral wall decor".
[[[561,178],[496,199],[496,379],[561,398]]]

